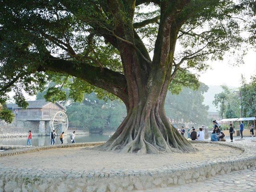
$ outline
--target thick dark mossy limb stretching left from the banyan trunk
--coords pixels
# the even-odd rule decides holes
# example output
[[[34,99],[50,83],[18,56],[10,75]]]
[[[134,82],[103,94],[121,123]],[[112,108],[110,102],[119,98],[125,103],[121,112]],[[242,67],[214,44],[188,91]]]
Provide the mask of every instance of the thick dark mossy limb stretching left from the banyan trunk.
[[[126,79],[123,74],[92,66],[86,63],[78,63],[49,56],[42,65],[45,71],[50,70],[75,76],[86,82],[102,88],[118,96],[125,104],[128,104],[128,93],[124,90]]]

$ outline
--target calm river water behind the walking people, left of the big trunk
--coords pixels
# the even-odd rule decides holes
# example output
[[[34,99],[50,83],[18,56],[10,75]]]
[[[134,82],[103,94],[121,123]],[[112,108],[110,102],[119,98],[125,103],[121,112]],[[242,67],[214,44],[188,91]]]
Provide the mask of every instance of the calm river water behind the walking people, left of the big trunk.
[[[111,134],[90,134],[90,135],[76,135],[75,141],[76,143],[83,142],[100,142],[107,141],[110,138]],[[18,138],[0,138],[0,145],[26,145],[27,138],[26,137],[18,137]],[[50,145],[51,139],[50,136],[40,136],[40,137],[32,137],[31,143],[32,146],[44,146]],[[70,136],[64,137],[64,144],[71,143]],[[61,144],[59,137],[55,138],[55,144]]]

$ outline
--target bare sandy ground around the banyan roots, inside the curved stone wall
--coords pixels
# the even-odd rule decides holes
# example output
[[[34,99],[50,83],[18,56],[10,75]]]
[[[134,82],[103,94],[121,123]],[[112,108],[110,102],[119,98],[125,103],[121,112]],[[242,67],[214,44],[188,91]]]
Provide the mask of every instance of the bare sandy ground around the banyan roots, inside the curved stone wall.
[[[214,158],[241,154],[242,151],[214,144],[193,144],[198,152],[187,154],[136,155],[102,152],[86,148],[58,148],[40,152],[5,156],[0,158],[1,166],[45,170],[102,170],[102,169],[150,169],[198,162]]]

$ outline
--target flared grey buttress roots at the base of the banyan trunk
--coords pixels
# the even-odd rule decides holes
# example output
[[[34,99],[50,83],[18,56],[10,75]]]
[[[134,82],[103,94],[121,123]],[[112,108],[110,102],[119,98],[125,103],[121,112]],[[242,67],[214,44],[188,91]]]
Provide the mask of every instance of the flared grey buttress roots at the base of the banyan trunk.
[[[106,144],[94,149],[137,154],[196,151],[163,116],[165,114],[155,108],[150,111],[148,118],[140,118],[140,121],[136,118],[138,112],[129,113]]]

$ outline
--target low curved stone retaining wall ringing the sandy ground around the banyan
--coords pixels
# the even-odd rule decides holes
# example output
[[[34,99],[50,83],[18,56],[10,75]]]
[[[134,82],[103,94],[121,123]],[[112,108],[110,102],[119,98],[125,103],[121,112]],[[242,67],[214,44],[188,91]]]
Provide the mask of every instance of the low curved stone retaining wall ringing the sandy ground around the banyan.
[[[40,169],[30,170],[29,168],[20,168],[19,170],[0,168],[0,192],[124,192],[198,182],[216,174],[225,174],[232,170],[256,166],[256,155],[252,153],[251,148],[244,149],[220,142],[211,143],[238,148],[244,153],[225,159],[216,158],[211,162],[206,160],[192,163],[182,162],[182,167],[172,165],[149,170],[49,172]],[[81,146],[82,144],[76,145]],[[26,152],[76,145],[44,146],[31,148]],[[86,144],[84,145],[86,146]],[[4,153],[5,155],[16,154],[16,152]]]

